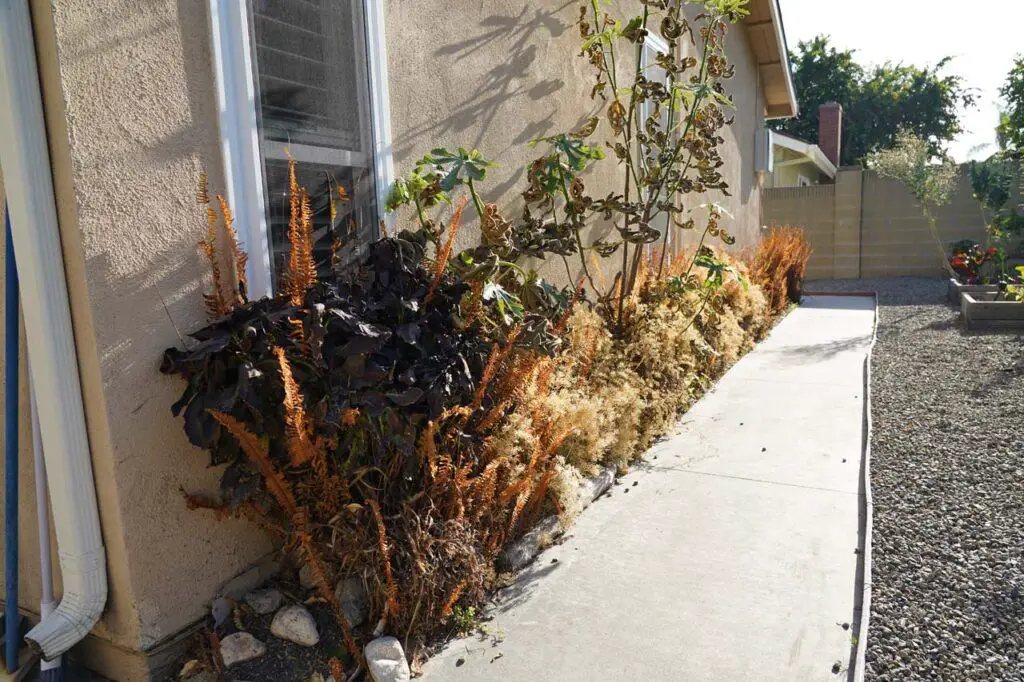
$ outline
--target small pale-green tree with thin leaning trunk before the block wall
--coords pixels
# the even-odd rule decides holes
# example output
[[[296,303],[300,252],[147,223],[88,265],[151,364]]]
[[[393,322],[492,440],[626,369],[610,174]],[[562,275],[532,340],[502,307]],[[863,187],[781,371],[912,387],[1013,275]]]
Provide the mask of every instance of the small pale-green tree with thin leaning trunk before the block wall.
[[[891,148],[872,152],[867,156],[867,167],[883,177],[902,182],[914,196],[928,221],[942,265],[950,276],[955,278],[956,271],[946,259],[946,250],[939,238],[935,209],[949,203],[956,184],[956,165],[948,158],[936,159],[928,140],[901,130]]]

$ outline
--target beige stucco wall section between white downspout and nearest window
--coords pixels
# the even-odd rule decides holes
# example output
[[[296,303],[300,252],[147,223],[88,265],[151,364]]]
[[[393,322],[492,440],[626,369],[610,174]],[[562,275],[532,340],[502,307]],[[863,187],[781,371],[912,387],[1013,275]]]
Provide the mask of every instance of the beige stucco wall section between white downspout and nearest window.
[[[202,169],[214,188],[220,173],[206,4],[62,0],[36,15],[55,39],[43,73],[67,126],[53,164],[66,252],[72,226],[79,245],[69,288],[112,573],[96,634],[136,650],[201,617],[270,549],[246,523],[185,508],[180,491],[215,491],[219,471],[170,415],[182,384],[158,372],[204,323],[195,195]]]

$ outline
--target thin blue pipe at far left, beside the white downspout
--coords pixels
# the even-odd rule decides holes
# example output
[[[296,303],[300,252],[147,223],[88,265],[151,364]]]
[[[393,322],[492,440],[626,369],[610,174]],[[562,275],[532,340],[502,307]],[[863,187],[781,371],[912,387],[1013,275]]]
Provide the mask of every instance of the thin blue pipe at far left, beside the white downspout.
[[[18,366],[18,291],[14,243],[10,238],[10,210],[6,214],[6,251],[4,252],[4,522],[5,579],[7,590],[4,604],[4,660],[7,672],[17,670],[17,646],[20,640],[22,616],[17,612],[17,371]]]

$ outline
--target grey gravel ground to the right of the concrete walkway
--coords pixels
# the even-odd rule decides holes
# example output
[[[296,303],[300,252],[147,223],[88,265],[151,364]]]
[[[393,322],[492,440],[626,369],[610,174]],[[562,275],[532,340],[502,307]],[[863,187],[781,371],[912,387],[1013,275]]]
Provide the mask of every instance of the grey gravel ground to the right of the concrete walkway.
[[[1024,681],[1024,338],[969,334],[939,280],[878,291],[867,680]]]

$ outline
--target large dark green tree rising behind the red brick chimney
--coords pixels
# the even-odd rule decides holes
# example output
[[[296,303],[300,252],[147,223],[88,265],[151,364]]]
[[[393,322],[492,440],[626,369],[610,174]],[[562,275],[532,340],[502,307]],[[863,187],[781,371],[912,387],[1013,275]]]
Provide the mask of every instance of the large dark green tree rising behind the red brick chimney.
[[[941,156],[964,130],[959,108],[973,106],[976,99],[964,79],[942,74],[951,57],[932,68],[889,61],[867,68],[857,63],[853,50],[837,50],[827,36],[818,36],[802,41],[790,59],[800,117],[777,121],[773,128],[814,141],[818,106],[838,101],[844,110],[843,165],[863,165],[869,153],[892,147],[900,130],[928,140],[930,152]]]

